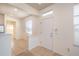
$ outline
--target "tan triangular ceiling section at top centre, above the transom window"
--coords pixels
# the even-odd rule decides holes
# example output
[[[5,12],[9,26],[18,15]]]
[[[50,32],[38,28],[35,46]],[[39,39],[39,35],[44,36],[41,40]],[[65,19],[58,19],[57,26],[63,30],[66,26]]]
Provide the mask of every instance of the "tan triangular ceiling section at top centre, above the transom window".
[[[32,6],[33,8],[37,10],[42,10],[48,6],[53,5],[54,3],[27,3],[28,5]]]

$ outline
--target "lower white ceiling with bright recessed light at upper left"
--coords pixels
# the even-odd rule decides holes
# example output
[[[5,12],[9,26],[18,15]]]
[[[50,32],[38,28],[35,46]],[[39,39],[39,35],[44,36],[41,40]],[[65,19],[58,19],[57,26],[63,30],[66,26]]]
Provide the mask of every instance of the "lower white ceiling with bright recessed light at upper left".
[[[0,13],[16,18],[22,18],[27,15],[24,11],[8,4],[0,4]]]

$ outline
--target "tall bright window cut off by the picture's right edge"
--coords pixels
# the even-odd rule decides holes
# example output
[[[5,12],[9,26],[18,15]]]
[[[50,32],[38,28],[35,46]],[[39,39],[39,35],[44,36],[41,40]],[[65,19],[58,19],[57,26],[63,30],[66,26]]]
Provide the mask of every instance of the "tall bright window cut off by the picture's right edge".
[[[75,45],[79,45],[79,4],[74,7],[74,36]]]

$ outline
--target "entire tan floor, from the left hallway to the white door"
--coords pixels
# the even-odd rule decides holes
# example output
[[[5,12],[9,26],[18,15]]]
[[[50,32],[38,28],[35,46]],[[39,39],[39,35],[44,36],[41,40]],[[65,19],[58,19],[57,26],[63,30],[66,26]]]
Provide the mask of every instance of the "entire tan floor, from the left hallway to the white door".
[[[60,56],[59,54],[50,51],[44,47],[35,47],[31,51],[25,50],[26,41],[21,39],[15,42],[12,49],[12,56]]]

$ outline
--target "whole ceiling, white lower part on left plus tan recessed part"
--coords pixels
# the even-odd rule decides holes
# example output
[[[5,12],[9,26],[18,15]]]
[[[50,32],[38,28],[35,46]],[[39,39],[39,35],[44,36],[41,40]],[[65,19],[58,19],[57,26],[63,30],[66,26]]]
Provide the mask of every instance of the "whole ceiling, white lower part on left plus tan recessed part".
[[[0,3],[0,13],[22,19],[30,14],[38,15],[39,10],[50,5],[52,5],[52,3]]]

